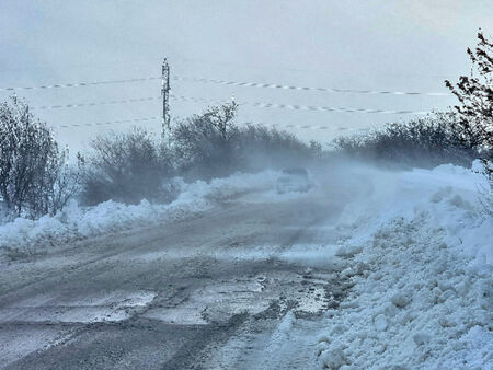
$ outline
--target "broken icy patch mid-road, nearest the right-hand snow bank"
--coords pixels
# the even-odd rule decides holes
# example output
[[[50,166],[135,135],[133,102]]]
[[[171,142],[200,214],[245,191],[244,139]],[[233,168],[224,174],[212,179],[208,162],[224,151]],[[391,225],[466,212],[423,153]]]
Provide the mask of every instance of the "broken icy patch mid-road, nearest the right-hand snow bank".
[[[262,315],[273,305],[278,315],[288,310],[317,314],[328,308],[328,280],[291,271],[270,271],[233,280],[210,280],[176,302],[153,304],[142,316],[175,325],[225,323],[240,313]]]

